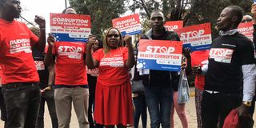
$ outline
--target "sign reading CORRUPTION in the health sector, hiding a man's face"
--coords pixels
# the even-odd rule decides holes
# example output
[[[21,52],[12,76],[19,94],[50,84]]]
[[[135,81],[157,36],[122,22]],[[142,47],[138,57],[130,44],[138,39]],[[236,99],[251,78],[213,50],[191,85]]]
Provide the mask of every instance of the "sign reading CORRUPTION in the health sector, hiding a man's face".
[[[50,33],[58,42],[86,42],[90,34],[90,15],[50,14]]]

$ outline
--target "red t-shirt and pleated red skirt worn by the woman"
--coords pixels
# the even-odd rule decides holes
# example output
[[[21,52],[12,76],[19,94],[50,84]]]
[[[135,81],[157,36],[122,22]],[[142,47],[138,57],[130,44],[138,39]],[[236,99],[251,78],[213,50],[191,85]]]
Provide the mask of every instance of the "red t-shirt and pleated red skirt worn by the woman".
[[[93,56],[99,62],[94,120],[106,126],[133,124],[129,71],[124,65],[127,48],[110,50],[108,54],[100,49]]]

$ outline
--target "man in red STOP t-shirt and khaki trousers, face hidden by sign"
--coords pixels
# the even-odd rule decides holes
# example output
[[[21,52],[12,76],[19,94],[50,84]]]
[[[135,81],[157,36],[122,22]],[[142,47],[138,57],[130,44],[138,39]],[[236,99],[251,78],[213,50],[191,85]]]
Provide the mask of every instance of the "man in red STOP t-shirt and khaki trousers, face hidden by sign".
[[[65,14],[76,14],[72,8]],[[89,90],[86,77],[86,43],[55,42],[49,35],[45,57],[46,66],[55,64],[54,99],[58,117],[58,127],[70,127],[71,103],[73,102],[80,128],[89,127],[88,102]],[[56,60],[54,58],[56,57]]]

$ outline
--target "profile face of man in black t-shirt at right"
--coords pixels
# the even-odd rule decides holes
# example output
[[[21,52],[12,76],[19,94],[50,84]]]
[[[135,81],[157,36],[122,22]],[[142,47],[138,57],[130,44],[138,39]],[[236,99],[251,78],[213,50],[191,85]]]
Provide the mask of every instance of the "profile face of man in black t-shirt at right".
[[[232,14],[232,9],[229,7],[226,7],[224,10],[222,10],[222,13],[220,14],[216,27],[218,30],[232,30],[232,26],[234,22],[236,22],[236,18],[234,18],[234,15]]]

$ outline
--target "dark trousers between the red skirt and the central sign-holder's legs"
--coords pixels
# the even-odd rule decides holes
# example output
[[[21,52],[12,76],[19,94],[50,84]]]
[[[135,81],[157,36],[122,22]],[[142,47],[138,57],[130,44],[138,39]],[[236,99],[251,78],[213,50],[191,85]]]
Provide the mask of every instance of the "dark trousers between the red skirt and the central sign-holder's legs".
[[[142,115],[142,127],[146,128],[146,98],[145,94],[138,93],[134,99],[134,128],[138,128],[139,118]]]

